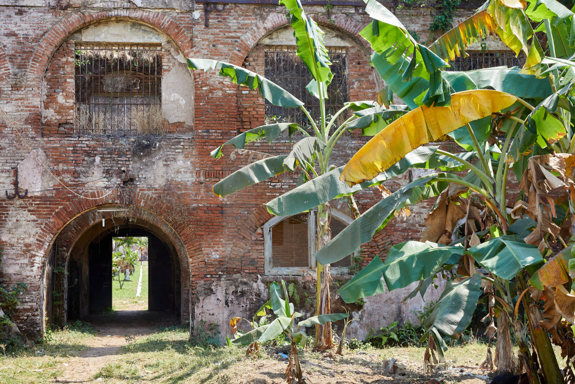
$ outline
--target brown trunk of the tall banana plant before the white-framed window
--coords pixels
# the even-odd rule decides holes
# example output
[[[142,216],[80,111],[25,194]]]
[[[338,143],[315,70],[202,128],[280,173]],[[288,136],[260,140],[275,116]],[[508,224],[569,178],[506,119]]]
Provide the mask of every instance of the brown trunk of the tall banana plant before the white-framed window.
[[[331,240],[329,216],[330,210],[328,204],[317,207],[317,250],[323,248],[325,244]],[[316,315],[331,313],[329,280],[329,264],[321,265],[317,263]],[[333,344],[331,321],[323,325],[316,325],[316,337],[313,347],[321,351],[335,347],[335,344]]]

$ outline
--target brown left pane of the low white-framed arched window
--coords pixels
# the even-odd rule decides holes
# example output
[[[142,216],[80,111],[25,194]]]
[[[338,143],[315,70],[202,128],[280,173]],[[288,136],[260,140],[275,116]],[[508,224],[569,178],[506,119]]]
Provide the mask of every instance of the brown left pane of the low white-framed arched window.
[[[291,216],[271,227],[272,267],[308,268],[308,215]]]

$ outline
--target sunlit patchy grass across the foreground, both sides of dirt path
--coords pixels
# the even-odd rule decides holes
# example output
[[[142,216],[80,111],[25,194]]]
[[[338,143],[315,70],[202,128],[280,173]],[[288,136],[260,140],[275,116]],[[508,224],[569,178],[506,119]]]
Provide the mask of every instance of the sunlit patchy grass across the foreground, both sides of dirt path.
[[[14,356],[0,355],[0,384],[53,382],[68,365],[73,366],[77,359],[72,358],[88,348],[86,342],[94,334],[89,324],[76,322],[50,333],[42,345],[22,349]],[[286,360],[279,353],[286,353],[287,345],[282,341],[262,345],[258,358],[253,358],[246,357],[245,347],[202,348],[191,344],[188,336],[187,327],[173,326],[148,336],[126,339],[114,356],[94,371],[91,380],[110,384],[285,382]],[[424,374],[421,364],[424,348],[417,347],[374,348],[359,344],[358,349],[344,349],[343,356],[306,349],[301,350],[301,362],[304,375],[315,384],[423,383],[430,377],[443,377],[445,384],[484,384],[490,380],[461,372],[488,375],[489,372],[478,368],[486,349],[486,344],[476,341],[450,347],[446,363],[440,364],[435,375]],[[390,358],[397,359],[405,372],[402,376],[385,373],[383,362]],[[493,373],[489,375],[493,377]]]

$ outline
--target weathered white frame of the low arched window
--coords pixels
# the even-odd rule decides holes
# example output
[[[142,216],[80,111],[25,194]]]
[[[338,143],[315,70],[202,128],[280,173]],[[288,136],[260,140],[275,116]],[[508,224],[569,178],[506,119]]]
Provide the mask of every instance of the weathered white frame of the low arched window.
[[[316,215],[317,208],[308,212],[308,267],[272,267],[273,248],[271,246],[271,228],[290,216],[275,216],[262,226],[264,273],[266,275],[303,275],[304,272],[313,271],[316,268]],[[331,215],[347,225],[350,225],[353,221],[350,216],[333,208]],[[354,257],[358,255],[359,248],[355,250]],[[347,267],[332,267],[330,271],[335,275],[347,275],[349,273]]]

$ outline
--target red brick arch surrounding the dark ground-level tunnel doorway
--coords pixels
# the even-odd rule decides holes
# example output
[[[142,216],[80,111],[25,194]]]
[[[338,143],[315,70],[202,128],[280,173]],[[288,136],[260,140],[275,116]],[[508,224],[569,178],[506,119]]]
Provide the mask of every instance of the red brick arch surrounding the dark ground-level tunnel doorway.
[[[87,197],[92,197],[93,200],[76,197],[68,201],[54,212],[51,220],[40,227],[39,235],[36,238],[36,244],[34,246],[34,249],[36,249],[34,253],[41,258],[43,265],[41,276],[44,276],[48,254],[52,245],[58,235],[60,235],[72,221],[97,208],[117,205],[113,199],[104,196],[104,194],[104,192],[91,192]],[[139,217],[152,223],[159,229],[163,229],[167,233],[168,238],[170,238],[170,241],[173,242],[174,247],[178,250],[182,269],[182,286],[186,285],[189,287],[191,301],[191,299],[193,299],[193,284],[190,286],[190,281],[194,280],[194,277],[200,278],[205,275],[205,260],[202,257],[202,247],[192,223],[184,222],[170,225],[163,217],[163,213],[170,212],[172,208],[162,200],[147,193],[136,192],[134,194],[133,206],[135,206],[133,210],[135,217]],[[105,214],[108,218],[111,215],[112,212]],[[79,231],[78,235],[82,235],[82,231]],[[43,297],[39,298],[39,308],[44,307],[43,299]],[[190,307],[189,310],[191,311],[193,308]],[[41,311],[39,324],[42,326],[44,324],[43,316],[43,311]]]

